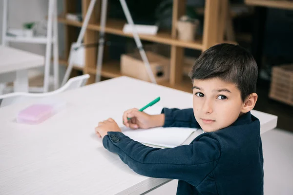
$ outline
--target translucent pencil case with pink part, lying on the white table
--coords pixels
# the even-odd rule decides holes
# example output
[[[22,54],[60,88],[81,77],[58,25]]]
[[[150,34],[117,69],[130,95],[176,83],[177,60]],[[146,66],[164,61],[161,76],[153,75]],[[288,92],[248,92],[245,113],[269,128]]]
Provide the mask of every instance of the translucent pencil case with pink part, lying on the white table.
[[[56,104],[46,104],[46,103],[38,103],[33,104],[24,110],[21,110],[17,117],[16,121],[18,123],[26,123],[26,124],[39,124],[49,117],[52,117],[57,112],[59,112],[64,105],[62,103]]]

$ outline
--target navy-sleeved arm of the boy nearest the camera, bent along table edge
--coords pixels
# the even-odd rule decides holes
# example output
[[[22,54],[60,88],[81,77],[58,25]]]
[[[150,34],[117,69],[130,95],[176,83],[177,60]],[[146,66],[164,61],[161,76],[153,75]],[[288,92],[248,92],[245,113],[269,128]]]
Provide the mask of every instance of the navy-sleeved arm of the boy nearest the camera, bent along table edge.
[[[195,186],[214,169],[220,156],[218,141],[208,136],[190,145],[159,149],[147,147],[123,133],[108,132],[103,145],[140,175],[180,179]]]

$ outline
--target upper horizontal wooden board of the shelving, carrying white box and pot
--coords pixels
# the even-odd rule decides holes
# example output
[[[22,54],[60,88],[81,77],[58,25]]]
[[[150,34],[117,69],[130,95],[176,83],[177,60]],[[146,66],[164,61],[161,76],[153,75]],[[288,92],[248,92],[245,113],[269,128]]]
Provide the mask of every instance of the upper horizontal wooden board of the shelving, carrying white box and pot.
[[[72,26],[78,26],[82,27],[83,23],[73,20],[67,20],[64,18],[58,18],[58,21],[67,25]],[[114,34],[114,35],[120,35],[124,37],[130,37],[132,38],[132,34],[130,33],[124,33],[123,26],[126,22],[123,20],[107,20],[105,32]],[[101,30],[101,27],[99,24],[88,24],[87,29],[93,30],[93,31],[99,31]],[[203,41],[202,38],[199,38],[195,41],[183,41],[179,39],[173,39],[171,38],[170,33],[168,32],[158,32],[157,35],[139,35],[140,39],[142,40],[149,40],[154,42],[159,42],[167,45],[174,45],[179,47],[185,47],[190,49],[199,49],[202,50],[203,48]]]

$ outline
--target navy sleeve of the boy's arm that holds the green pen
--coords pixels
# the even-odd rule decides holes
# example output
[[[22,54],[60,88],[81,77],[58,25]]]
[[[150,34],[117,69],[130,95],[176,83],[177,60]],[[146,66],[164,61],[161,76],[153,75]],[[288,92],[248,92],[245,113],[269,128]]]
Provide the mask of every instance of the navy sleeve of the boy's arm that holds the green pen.
[[[177,108],[163,108],[162,114],[165,114],[165,123],[163,127],[200,128],[194,117],[192,108],[182,110]]]

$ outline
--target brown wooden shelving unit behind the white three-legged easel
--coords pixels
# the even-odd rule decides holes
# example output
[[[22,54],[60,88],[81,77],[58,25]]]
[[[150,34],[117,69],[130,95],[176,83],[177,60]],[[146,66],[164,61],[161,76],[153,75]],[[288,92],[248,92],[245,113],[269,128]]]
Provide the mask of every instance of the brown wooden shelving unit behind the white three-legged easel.
[[[90,0],[81,0],[82,1],[82,14],[85,16],[87,7],[90,3]],[[76,7],[72,0],[64,0],[64,13],[74,13],[76,12]],[[191,82],[190,79],[183,77],[182,74],[182,62],[184,58],[184,48],[190,48],[195,50],[204,51],[210,46],[224,42],[223,40],[223,28],[220,28],[220,20],[225,20],[223,14],[220,15],[220,9],[223,9],[223,6],[227,6],[227,0],[206,0],[206,5],[204,9],[204,34],[203,37],[198,37],[195,41],[183,41],[177,39],[176,24],[177,20],[185,14],[185,5],[186,0],[173,0],[173,13],[172,13],[172,28],[170,32],[161,32],[159,31],[157,35],[139,35],[140,39],[152,41],[156,43],[162,43],[170,45],[170,79],[168,82],[158,83],[167,87],[172,87],[175,89],[191,92]],[[101,9],[101,0],[97,0],[95,8],[93,10],[92,16],[89,20],[85,35],[84,35],[84,44],[97,43],[98,35],[101,29],[99,24],[100,17],[99,14]],[[82,22],[66,20],[64,17],[59,17],[58,21],[65,25],[65,37],[66,37],[66,51],[65,58],[68,58],[69,49],[72,42],[77,40],[77,34],[72,34],[71,29],[76,27],[82,27]],[[112,20],[107,18],[106,20],[105,33],[113,34],[123,37],[132,38],[132,34],[126,34],[123,32],[123,26],[126,23],[124,20]],[[75,70],[82,70],[85,74],[90,74],[91,78],[89,83],[95,81],[96,74],[96,61],[97,61],[97,48],[89,47],[85,49],[85,64],[84,68],[74,66]],[[67,64],[67,61],[61,60],[64,65]],[[119,61],[106,61],[104,60],[102,66],[102,76],[105,78],[115,78],[122,76],[120,72],[120,62]]]

